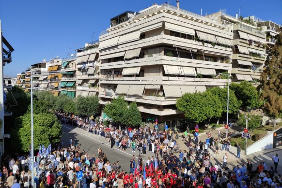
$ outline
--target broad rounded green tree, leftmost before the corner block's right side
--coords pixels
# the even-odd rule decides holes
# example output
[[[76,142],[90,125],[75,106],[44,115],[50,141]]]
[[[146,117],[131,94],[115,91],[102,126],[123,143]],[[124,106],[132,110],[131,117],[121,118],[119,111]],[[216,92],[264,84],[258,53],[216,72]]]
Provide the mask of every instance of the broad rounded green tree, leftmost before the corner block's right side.
[[[207,118],[203,106],[204,97],[202,93],[185,93],[176,101],[177,109],[185,113],[185,117],[195,121],[197,124]]]

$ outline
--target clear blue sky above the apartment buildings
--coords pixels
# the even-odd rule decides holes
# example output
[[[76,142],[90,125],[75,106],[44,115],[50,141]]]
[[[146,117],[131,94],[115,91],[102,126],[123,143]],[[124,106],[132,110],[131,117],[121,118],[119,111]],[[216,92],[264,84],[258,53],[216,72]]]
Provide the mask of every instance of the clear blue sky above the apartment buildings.
[[[0,0],[2,33],[15,49],[4,74],[16,76],[43,58],[66,58],[98,40],[110,18],[165,2],[176,6],[176,0]],[[282,24],[282,0],[180,0],[180,8],[196,14],[226,9],[233,16],[240,9],[243,17]]]

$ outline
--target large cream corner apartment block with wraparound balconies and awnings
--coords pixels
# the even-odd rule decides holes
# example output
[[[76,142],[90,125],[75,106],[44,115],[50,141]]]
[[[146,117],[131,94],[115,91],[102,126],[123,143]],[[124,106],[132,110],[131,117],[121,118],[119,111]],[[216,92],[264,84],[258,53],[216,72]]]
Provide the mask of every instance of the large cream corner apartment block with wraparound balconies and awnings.
[[[101,104],[124,96],[137,102],[143,121],[186,125],[177,98],[228,82],[220,74],[231,73],[233,32],[221,22],[162,4],[110,23],[99,37]]]

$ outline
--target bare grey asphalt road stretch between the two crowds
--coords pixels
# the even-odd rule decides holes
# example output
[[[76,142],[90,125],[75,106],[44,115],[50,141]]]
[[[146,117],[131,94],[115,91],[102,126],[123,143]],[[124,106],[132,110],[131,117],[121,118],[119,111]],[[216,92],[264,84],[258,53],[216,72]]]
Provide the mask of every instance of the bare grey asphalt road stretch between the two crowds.
[[[98,156],[98,148],[101,147],[102,152],[104,152],[108,158],[108,160],[113,164],[116,161],[119,161],[121,166],[121,170],[125,170],[125,172],[129,172],[129,161],[132,158],[132,155],[126,152],[123,152],[119,149],[116,149],[115,146],[110,148],[110,144],[106,144],[105,138],[101,138],[100,136],[94,135],[90,132],[86,132],[85,130],[75,128],[73,126],[62,124],[63,136],[61,138],[63,142],[63,146],[66,147],[69,142],[69,138],[71,137],[73,140],[77,139],[78,144],[81,144],[80,148],[84,149],[87,154],[91,157],[93,154]],[[131,150],[130,150],[131,152]],[[134,153],[138,155],[138,153]]]

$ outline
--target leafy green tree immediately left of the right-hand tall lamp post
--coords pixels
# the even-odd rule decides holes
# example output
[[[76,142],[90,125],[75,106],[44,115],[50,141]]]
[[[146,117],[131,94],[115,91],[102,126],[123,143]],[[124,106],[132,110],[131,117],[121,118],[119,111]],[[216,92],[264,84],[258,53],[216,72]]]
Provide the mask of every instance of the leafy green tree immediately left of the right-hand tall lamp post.
[[[204,106],[203,111],[208,118],[208,125],[210,119],[213,117],[220,117],[222,114],[222,103],[218,95],[213,94],[210,90],[203,93]]]

